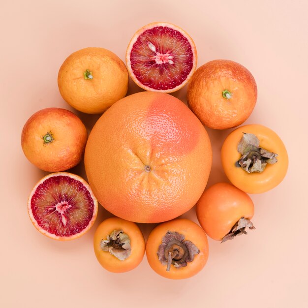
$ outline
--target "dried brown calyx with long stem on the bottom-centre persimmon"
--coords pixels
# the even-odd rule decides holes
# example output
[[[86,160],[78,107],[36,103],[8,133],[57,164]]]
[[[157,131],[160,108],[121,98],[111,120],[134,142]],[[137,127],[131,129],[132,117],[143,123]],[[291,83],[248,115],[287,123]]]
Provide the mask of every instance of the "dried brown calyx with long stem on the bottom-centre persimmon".
[[[198,247],[191,241],[185,241],[184,235],[168,231],[158,247],[157,256],[161,264],[167,265],[169,272],[171,265],[175,268],[187,266],[198,253],[200,253]]]

